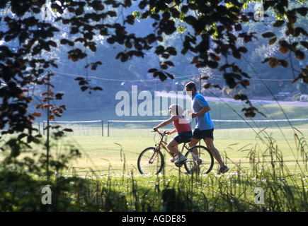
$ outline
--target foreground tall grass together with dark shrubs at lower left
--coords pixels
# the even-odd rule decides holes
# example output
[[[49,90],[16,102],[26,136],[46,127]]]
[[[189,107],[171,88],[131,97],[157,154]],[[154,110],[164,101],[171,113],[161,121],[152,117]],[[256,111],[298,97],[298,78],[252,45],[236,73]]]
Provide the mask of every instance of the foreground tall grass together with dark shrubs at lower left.
[[[59,157],[52,158],[51,169],[55,176],[42,177],[45,155],[31,160],[28,146],[11,142],[11,148],[0,171],[1,211],[307,211],[307,141],[295,133],[296,150],[292,150],[295,168],[290,169],[275,139],[261,130],[256,134],[256,145],[244,146],[238,151],[246,154],[249,167],[232,162],[227,152],[222,154],[224,162],[234,164],[230,172],[217,174],[185,174],[180,168],[165,168],[158,175],[136,174],[127,167],[125,150],[120,144],[122,172],[98,174],[88,170],[86,174],[73,171],[64,176],[67,163],[79,152],[72,145],[61,145]],[[42,145],[45,145],[42,143]],[[69,155],[64,155],[64,149]],[[26,152],[18,160],[17,153]],[[33,153],[38,156],[38,153]],[[21,155],[22,156],[22,155]],[[20,156],[20,157],[21,157]],[[40,165],[35,165],[35,161]],[[13,167],[12,167],[13,166]],[[91,167],[89,167],[91,169]],[[40,174],[39,174],[40,173]],[[50,185],[52,205],[41,203],[42,186]],[[264,203],[256,204],[256,188],[264,191]]]

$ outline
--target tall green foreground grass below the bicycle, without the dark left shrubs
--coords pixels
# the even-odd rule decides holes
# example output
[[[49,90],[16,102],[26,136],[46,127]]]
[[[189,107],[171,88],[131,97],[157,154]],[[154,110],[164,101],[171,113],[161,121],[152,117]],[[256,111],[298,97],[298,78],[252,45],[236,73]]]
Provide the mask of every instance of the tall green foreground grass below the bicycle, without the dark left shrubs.
[[[98,176],[93,172],[91,176],[82,176],[86,194],[75,201],[81,207],[79,210],[86,210],[85,203],[92,198],[92,206],[99,211],[160,211],[168,205],[169,210],[193,212],[307,211],[306,142],[297,136],[302,159],[296,161],[300,173],[295,174],[285,164],[273,138],[257,136],[257,139],[267,148],[261,150],[256,145],[243,150],[251,169],[241,167],[239,162],[234,172],[226,174],[215,171],[206,175],[184,174],[181,170],[166,174],[163,170],[161,174],[145,176],[134,174],[124,162],[122,174]],[[230,160],[226,154],[224,158]],[[263,189],[264,204],[255,203],[256,188]],[[176,193],[169,204],[162,198],[167,190]]]

